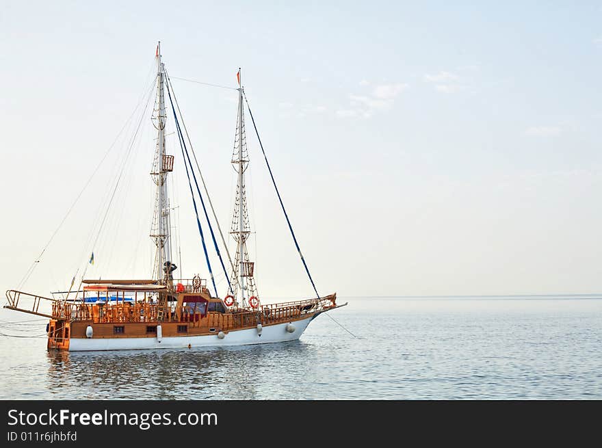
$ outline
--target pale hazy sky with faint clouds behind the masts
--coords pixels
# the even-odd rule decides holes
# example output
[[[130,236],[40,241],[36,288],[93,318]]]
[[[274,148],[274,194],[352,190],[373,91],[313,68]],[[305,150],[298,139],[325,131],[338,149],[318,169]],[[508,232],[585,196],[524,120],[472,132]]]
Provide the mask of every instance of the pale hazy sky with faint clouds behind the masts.
[[[49,241],[22,289],[148,276],[160,40],[226,230],[237,92],[175,78],[241,67],[319,293],[600,293],[602,2],[473,3],[3,0],[0,286]],[[311,296],[246,120],[259,294]],[[174,138],[180,268],[207,278]]]

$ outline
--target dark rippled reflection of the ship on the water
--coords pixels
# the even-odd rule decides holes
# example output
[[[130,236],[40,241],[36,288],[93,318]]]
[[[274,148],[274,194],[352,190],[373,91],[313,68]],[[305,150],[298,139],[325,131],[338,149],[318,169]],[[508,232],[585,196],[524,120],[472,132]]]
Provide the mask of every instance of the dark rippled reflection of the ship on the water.
[[[55,399],[275,399],[286,378],[311,375],[319,347],[293,341],[191,350],[49,350],[47,388]],[[281,396],[279,396],[282,394]]]

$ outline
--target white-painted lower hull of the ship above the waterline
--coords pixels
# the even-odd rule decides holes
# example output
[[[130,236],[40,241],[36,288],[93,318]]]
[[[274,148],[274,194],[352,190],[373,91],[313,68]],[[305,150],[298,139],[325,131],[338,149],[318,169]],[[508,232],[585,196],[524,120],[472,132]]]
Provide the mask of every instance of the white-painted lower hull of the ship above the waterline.
[[[292,321],[293,332],[287,331],[288,322],[263,326],[261,336],[257,328],[230,330],[224,332],[224,339],[218,334],[203,334],[197,336],[166,336],[161,337],[119,337],[119,338],[71,338],[68,344],[69,352],[86,352],[99,350],[143,350],[157,348],[187,348],[190,347],[227,347],[232,345],[252,345],[274,342],[295,341],[301,337],[315,315],[305,319]]]

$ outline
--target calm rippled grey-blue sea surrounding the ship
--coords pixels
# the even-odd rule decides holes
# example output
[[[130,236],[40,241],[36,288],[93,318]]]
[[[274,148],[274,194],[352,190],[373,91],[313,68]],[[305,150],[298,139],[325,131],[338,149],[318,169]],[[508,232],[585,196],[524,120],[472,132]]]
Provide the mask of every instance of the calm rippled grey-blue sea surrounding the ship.
[[[602,399],[602,295],[339,298],[300,341],[47,352],[0,336],[0,399]],[[45,321],[8,310],[0,332]],[[8,322],[27,321],[22,324]]]

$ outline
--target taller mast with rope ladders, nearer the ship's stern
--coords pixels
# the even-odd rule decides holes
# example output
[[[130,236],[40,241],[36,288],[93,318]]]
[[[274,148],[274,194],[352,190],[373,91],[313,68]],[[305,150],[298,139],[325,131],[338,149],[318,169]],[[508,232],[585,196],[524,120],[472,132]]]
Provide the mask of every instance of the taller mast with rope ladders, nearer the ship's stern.
[[[153,171],[150,175],[153,177],[157,190],[155,192],[155,212],[153,213],[153,224],[150,230],[150,237],[155,241],[155,267],[153,268],[153,278],[161,282],[165,278],[164,267],[166,262],[171,260],[170,244],[170,205],[167,190],[167,173],[173,169],[174,157],[165,153],[165,94],[163,92],[163,83],[165,81],[165,69],[161,62],[161,42],[157,44],[157,95],[155,99],[155,109],[153,110],[153,122],[157,128],[157,146],[155,150],[155,159],[153,161]]]

